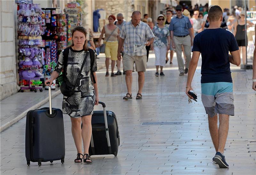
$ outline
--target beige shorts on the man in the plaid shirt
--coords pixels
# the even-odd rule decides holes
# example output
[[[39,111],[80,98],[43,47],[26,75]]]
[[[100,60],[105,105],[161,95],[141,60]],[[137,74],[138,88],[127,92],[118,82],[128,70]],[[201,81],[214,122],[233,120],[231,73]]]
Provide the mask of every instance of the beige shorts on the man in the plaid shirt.
[[[132,71],[135,63],[136,72],[146,72],[147,67],[147,55],[143,56],[130,56],[124,54],[123,65],[124,71]]]

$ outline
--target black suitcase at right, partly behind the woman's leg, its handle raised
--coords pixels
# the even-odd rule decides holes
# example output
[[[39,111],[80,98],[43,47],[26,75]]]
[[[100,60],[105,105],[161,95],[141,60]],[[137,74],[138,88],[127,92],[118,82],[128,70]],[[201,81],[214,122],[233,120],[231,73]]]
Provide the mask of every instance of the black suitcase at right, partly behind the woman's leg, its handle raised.
[[[117,156],[120,137],[116,114],[112,111],[106,111],[105,103],[99,103],[102,104],[103,110],[94,111],[92,115],[92,137],[89,154],[113,154]]]

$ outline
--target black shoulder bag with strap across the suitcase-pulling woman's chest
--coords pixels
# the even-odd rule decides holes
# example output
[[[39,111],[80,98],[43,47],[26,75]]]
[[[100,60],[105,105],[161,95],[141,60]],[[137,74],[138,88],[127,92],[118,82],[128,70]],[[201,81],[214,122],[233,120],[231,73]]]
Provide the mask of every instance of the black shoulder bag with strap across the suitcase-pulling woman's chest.
[[[76,85],[72,85],[68,79],[67,79],[67,65],[68,65],[68,53],[69,53],[69,48],[66,48],[64,49],[63,51],[63,60],[64,60],[64,71],[63,71],[63,77],[64,77],[64,81],[62,82],[62,84],[60,85],[60,92],[64,95],[64,96],[67,96],[67,97],[70,97],[71,95],[73,95],[75,93],[75,88],[76,88],[76,85],[79,84],[79,81],[80,81],[80,77],[78,77],[76,79]],[[84,64],[85,64],[85,60],[88,56],[88,52],[85,52],[85,57],[84,57],[84,61],[83,61],[83,64],[81,66],[81,69],[79,71],[79,74],[81,74],[82,70],[83,70],[83,67],[84,67]]]

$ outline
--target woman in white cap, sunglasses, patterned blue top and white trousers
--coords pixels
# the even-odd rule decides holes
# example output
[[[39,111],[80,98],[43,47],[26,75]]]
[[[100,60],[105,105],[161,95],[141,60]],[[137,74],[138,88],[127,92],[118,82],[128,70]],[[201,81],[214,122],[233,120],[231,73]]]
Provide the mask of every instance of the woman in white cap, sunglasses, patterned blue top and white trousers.
[[[167,26],[164,25],[164,15],[160,14],[157,17],[157,25],[153,27],[152,31],[155,34],[154,38],[154,52],[156,56],[156,73],[158,77],[158,69],[160,66],[160,76],[164,76],[163,67],[166,64],[166,51],[170,49],[170,32]]]

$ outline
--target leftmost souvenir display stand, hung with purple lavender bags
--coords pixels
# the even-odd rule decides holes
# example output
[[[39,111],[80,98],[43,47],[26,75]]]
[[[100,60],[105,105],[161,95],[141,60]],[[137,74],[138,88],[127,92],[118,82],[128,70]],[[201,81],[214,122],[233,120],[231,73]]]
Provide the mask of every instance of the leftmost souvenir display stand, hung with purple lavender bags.
[[[21,92],[24,89],[41,92],[43,69],[42,59],[42,34],[41,27],[42,10],[38,4],[18,4],[18,63],[19,63],[19,85]]]

